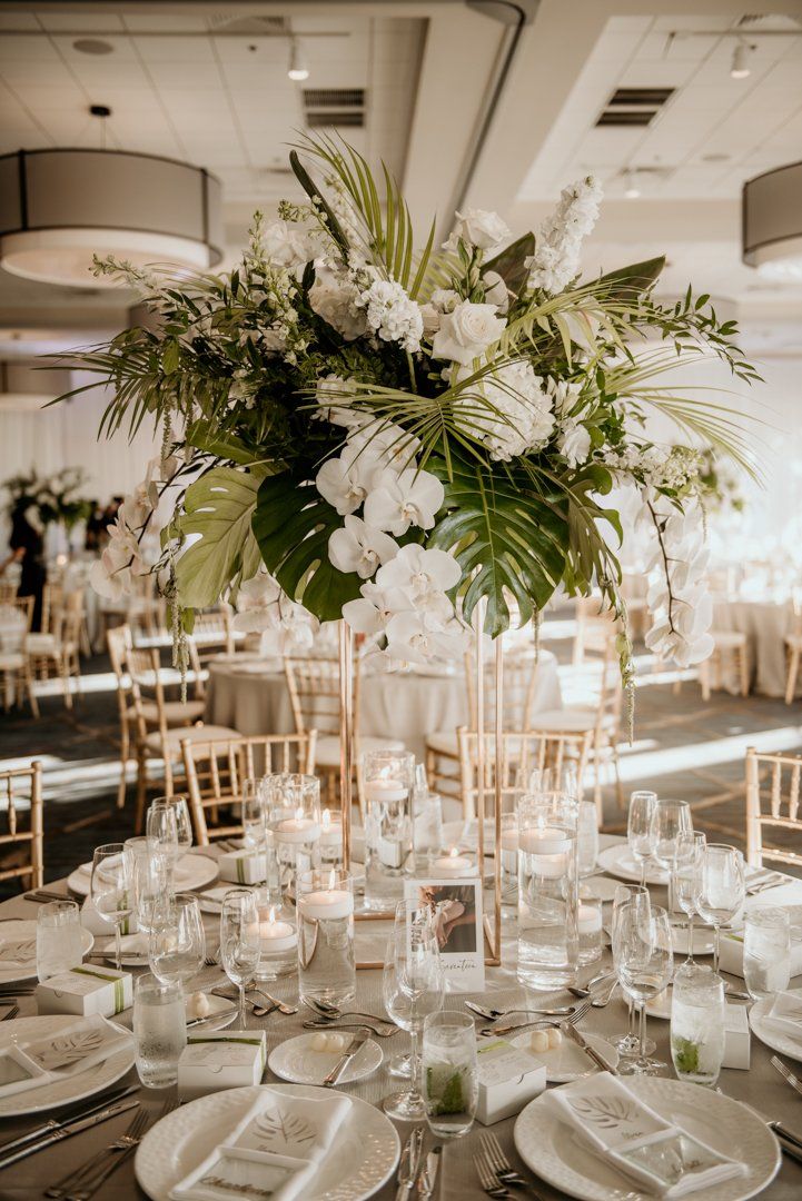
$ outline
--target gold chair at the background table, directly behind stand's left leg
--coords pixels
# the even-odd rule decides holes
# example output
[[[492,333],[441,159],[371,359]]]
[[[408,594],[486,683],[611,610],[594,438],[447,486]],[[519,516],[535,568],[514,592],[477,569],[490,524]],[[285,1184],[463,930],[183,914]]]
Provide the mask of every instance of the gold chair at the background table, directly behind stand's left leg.
[[[336,658],[285,658],[285,674],[289,689],[297,734],[318,731],[316,761],[321,777],[322,796],[327,805],[336,805],[340,778],[340,661]],[[359,718],[360,663],[354,663],[353,715],[354,760],[365,751],[403,751],[399,739],[363,737]]]

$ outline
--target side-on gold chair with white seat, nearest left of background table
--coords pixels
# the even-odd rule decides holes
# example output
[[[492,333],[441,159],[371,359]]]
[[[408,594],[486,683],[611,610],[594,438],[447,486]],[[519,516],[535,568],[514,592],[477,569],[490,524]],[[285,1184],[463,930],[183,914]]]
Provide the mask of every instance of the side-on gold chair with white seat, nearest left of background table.
[[[182,770],[181,742],[185,739],[228,742],[241,737],[229,725],[196,725],[198,703],[168,701],[164,676],[156,647],[133,647],[125,653],[125,668],[131,680],[131,697],[137,723],[137,807],[134,827],[142,826],[148,794],[148,760],[161,760],[167,796],[172,796],[175,769]],[[170,707],[172,706],[172,707]],[[176,709],[175,706],[181,706]],[[179,717],[184,717],[179,721]],[[174,718],[170,724],[170,718]],[[161,787],[161,785],[160,785]]]

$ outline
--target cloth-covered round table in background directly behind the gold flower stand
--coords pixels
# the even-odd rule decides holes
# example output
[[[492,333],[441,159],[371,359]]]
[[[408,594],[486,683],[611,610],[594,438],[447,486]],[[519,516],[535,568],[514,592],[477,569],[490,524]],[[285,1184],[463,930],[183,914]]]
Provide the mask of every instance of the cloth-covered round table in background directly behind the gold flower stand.
[[[468,723],[462,663],[414,671],[363,667],[360,733],[401,739],[423,760],[426,735]],[[540,651],[533,712],[562,709],[557,659]],[[275,659],[220,656],[209,664],[205,719],[240,734],[291,734],[295,725],[287,680]]]

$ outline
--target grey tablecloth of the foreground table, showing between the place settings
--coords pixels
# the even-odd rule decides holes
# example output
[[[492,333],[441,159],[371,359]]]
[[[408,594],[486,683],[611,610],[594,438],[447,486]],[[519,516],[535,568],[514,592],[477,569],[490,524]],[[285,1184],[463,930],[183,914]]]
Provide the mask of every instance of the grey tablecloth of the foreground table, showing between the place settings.
[[[600,846],[604,848],[615,842],[622,841],[623,839],[621,838],[603,835],[600,838]],[[216,856],[216,850],[214,848],[204,848],[203,853]],[[64,891],[66,895],[66,882],[48,885],[48,889],[53,888],[58,891]],[[798,889],[800,901],[802,901],[802,882],[795,882],[795,888]],[[652,895],[659,903],[665,902],[664,888],[652,888]],[[37,909],[38,906],[36,903],[20,896],[13,901],[7,901],[0,904],[0,919],[31,919],[36,916]],[[207,925],[207,937],[209,938],[210,945],[214,946],[216,945],[213,939],[215,939],[216,936],[215,927],[217,921],[216,919],[209,916],[204,916],[204,921]],[[357,922],[357,932],[358,957],[372,960],[378,956],[381,958],[387,937],[385,922]],[[565,993],[533,994],[527,993],[517,985],[515,979],[515,940],[511,937],[511,931],[505,931],[505,937],[502,940],[502,967],[487,968],[486,970],[485,992],[466,993],[465,996],[484,1004],[495,1005],[499,1009],[526,1005],[527,1002],[529,1004],[549,1004],[549,999],[545,998],[549,998],[550,996],[552,997],[552,1003],[565,1004],[568,999]],[[609,967],[609,949],[604,954],[605,962],[602,966]],[[598,969],[598,963],[583,969],[585,974],[582,975],[582,979],[589,979],[591,975],[594,975]],[[137,974],[139,969],[132,970]],[[736,987],[743,987],[743,981],[738,980],[737,976],[732,976],[731,979]],[[220,968],[204,968],[197,979],[190,982],[188,987],[210,988],[223,982],[225,978]],[[802,985],[802,978],[797,976],[792,981],[792,985]],[[270,991],[281,999],[292,1002],[293,1004],[297,1003],[298,985],[293,976],[285,976],[281,981],[274,982],[269,987]],[[456,996],[451,996],[448,1004],[461,1008]],[[36,1012],[32,997],[22,997],[19,1005],[20,1016],[23,1017],[31,1016]],[[360,970],[357,973],[355,1008],[365,1009],[372,1012],[383,1011],[381,972]],[[263,1018],[255,1018],[253,1015],[251,1015],[249,1017],[249,1027],[263,1028],[267,1030],[269,1054],[273,1048],[283,1040],[303,1033],[303,1012],[288,1017],[271,1014]],[[131,1010],[128,1009],[125,1014],[120,1015],[118,1021],[130,1026]],[[620,994],[616,993],[612,1002],[606,1008],[593,1009],[591,1011],[591,1016],[582,1020],[581,1028],[591,1030],[592,1033],[602,1035],[606,1034],[610,1036],[622,1033],[626,1024],[627,1009]],[[670,1063],[669,1023],[657,1018],[650,1018],[648,1033],[657,1041],[658,1057]],[[382,1044],[382,1047],[385,1051],[385,1062],[390,1053],[395,1054],[399,1051],[403,1051],[406,1046],[407,1035],[403,1034],[403,1032],[393,1038],[390,1050],[388,1050],[385,1044]],[[802,1100],[791,1092],[790,1087],[771,1066],[770,1058],[773,1052],[768,1047],[760,1042],[755,1035],[752,1035],[750,1069],[748,1071],[724,1069],[719,1078],[719,1088],[726,1095],[732,1097],[736,1100],[746,1101],[766,1118],[782,1118],[795,1133],[802,1135]],[[796,1064],[791,1064],[791,1068],[792,1070],[798,1070]],[[672,1070],[669,1070],[668,1075],[674,1076]],[[263,1082],[270,1083],[274,1081],[275,1077],[273,1076],[270,1069],[265,1069]],[[137,1083],[136,1070],[132,1069],[130,1074],[124,1077],[124,1081],[120,1081],[120,1083]],[[384,1063],[372,1076],[367,1076],[355,1085],[343,1088],[343,1093],[346,1095],[360,1097],[373,1105],[379,1105],[382,1098],[397,1087],[399,1081],[394,1080],[389,1075]],[[148,1110],[150,1117],[156,1118],[163,1101],[166,1099],[174,1098],[175,1089],[151,1091],[142,1088],[134,1095]],[[35,1125],[40,1124],[44,1117],[58,1117],[60,1112],[60,1110],[53,1110],[50,1113],[41,1115],[38,1117],[29,1116],[8,1121],[4,1119],[0,1122],[0,1139],[5,1141],[18,1137],[20,1134],[24,1134]],[[36,1155],[24,1159],[20,1163],[0,1171],[0,1196],[4,1201],[31,1201],[32,1197],[42,1196],[43,1190],[49,1184],[53,1184],[68,1171],[72,1171],[82,1163],[97,1155],[113,1139],[119,1137],[125,1131],[130,1119],[131,1113],[115,1117],[100,1127],[94,1127],[83,1131],[72,1139],[67,1139],[64,1142],[58,1143],[55,1147],[50,1147],[47,1151],[40,1152]],[[533,1188],[537,1190],[538,1196],[541,1197],[543,1201],[563,1201],[565,1194],[552,1189],[550,1185],[534,1177],[519,1159],[513,1142],[514,1124],[515,1117],[510,1117],[495,1123],[491,1128],[493,1134],[498,1137],[504,1153],[511,1160],[514,1167],[523,1170],[525,1177],[533,1182]],[[409,1127],[405,1127],[402,1123],[396,1123],[396,1127],[401,1139],[406,1139],[409,1133]],[[439,1201],[483,1201],[484,1193],[480,1190],[478,1184],[473,1167],[472,1152],[478,1149],[479,1136],[484,1129],[484,1127],[477,1123],[466,1137],[445,1143],[443,1151],[443,1166],[439,1172],[438,1190],[436,1191],[432,1201],[438,1201],[438,1199]],[[427,1134],[426,1147],[431,1147],[432,1143],[433,1140],[431,1135]],[[737,1154],[737,1147],[732,1148],[732,1153]],[[382,1189],[378,1190],[378,1193],[375,1194],[378,1201],[394,1201],[395,1195],[396,1185],[394,1179],[388,1182]],[[783,1155],[779,1173],[760,1194],[760,1196],[765,1199],[765,1201],[798,1201],[801,1195],[802,1165]],[[138,1188],[134,1179],[133,1163],[131,1159],[127,1159],[95,1194],[96,1201],[142,1201],[143,1196],[144,1194]],[[702,1199],[705,1194],[700,1191],[692,1194],[692,1196]]]

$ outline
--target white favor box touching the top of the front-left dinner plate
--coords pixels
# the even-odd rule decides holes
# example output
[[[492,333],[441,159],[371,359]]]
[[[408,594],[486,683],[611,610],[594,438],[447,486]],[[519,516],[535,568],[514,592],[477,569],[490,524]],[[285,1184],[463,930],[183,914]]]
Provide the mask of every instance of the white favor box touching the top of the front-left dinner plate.
[[[178,1060],[181,1100],[262,1082],[268,1059],[264,1030],[209,1030],[187,1034]]]

